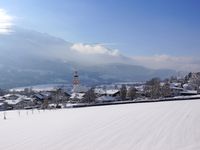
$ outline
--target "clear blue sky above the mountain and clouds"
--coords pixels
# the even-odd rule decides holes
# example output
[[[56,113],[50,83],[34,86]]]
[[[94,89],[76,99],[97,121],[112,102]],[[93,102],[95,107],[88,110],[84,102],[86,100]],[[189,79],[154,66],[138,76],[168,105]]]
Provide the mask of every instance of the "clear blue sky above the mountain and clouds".
[[[20,27],[129,56],[200,55],[198,0],[0,0]]]

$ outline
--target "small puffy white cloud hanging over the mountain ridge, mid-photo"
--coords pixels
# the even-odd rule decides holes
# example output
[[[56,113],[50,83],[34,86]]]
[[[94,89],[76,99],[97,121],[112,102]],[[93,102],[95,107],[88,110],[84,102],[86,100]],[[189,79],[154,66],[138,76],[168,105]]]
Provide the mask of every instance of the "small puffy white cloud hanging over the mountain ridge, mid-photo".
[[[83,44],[75,43],[71,46],[71,50],[83,53],[83,54],[107,54],[112,56],[118,56],[118,50],[110,50],[101,44]]]

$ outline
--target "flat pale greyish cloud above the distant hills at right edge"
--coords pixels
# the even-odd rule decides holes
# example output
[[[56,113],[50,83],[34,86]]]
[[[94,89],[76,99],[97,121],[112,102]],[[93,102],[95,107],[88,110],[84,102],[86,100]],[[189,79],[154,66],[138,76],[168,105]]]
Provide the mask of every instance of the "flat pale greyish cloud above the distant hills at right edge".
[[[154,69],[175,69],[183,71],[200,71],[200,59],[190,56],[137,56],[132,59],[139,65]]]

